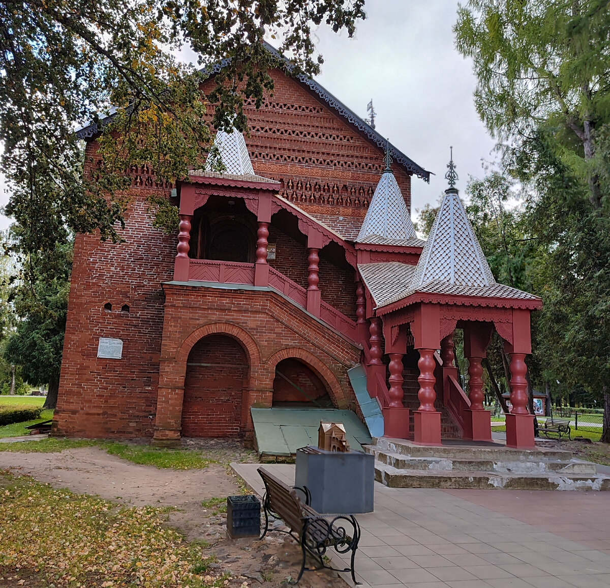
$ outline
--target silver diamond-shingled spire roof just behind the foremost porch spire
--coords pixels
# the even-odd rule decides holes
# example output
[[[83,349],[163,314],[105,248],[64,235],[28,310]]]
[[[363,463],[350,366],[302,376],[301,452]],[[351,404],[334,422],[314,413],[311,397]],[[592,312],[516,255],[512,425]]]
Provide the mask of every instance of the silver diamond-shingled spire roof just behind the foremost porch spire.
[[[378,241],[374,238],[377,237]],[[375,194],[368,205],[367,216],[362,223],[356,242],[384,242],[381,239],[406,241],[416,239],[409,209],[404,202],[394,174],[385,171],[375,188]],[[397,245],[404,245],[403,242]]]

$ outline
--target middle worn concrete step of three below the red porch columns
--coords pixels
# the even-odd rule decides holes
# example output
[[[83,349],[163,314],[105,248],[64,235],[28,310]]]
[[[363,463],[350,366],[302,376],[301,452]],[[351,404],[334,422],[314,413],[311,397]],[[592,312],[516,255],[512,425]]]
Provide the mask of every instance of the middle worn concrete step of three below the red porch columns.
[[[390,465],[398,470],[424,471],[476,471],[485,473],[512,474],[578,474],[580,476],[595,476],[595,463],[583,460],[511,460],[497,459],[447,459],[441,457],[407,457],[400,453],[379,451],[375,446],[365,446],[367,453],[373,454],[378,462]]]

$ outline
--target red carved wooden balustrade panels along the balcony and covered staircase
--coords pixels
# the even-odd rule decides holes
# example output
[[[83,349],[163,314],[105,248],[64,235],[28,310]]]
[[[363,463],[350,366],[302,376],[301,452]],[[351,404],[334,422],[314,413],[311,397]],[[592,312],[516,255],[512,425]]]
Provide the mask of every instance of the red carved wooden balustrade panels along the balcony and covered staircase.
[[[188,279],[229,284],[254,284],[254,263],[237,261],[189,260]],[[307,308],[307,290],[287,278],[278,270],[269,268],[269,286],[284,294],[297,305]],[[320,319],[329,327],[356,341],[356,323],[323,300],[320,303]]]

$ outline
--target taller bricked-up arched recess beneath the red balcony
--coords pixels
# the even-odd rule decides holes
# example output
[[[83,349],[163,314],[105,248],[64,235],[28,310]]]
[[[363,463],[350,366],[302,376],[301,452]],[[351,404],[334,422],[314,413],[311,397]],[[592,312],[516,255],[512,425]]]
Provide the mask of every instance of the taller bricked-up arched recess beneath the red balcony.
[[[182,435],[237,437],[243,430],[248,377],[248,356],[235,339],[226,335],[199,339],[187,359]]]

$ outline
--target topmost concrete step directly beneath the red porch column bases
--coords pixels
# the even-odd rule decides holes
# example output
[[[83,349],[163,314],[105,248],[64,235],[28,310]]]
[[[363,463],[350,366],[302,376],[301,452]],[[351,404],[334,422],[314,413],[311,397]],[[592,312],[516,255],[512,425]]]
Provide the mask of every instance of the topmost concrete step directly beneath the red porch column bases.
[[[389,437],[373,437],[371,444],[377,451],[397,453],[408,457],[439,457],[442,459],[465,459],[483,461],[540,461],[556,460],[569,462],[572,453],[561,449],[536,448],[536,449],[512,449],[501,443],[489,443],[481,445],[473,443],[448,443],[440,447],[428,447],[415,445],[404,439],[392,439]]]

